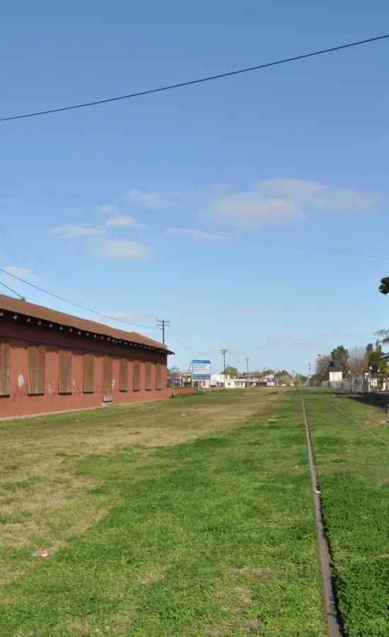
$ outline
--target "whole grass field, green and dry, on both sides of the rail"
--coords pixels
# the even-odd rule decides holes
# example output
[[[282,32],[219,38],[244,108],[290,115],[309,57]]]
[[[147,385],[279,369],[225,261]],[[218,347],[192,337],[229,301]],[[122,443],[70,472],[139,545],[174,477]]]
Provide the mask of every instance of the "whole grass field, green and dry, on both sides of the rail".
[[[388,450],[320,396],[306,406],[346,634],[389,634]],[[0,437],[1,637],[327,635],[298,394],[8,421]]]

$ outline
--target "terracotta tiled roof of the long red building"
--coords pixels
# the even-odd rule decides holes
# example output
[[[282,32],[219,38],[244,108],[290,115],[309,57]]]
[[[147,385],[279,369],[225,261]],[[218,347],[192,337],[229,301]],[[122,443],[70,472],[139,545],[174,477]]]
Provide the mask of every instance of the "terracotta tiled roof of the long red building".
[[[141,343],[142,345],[150,345],[150,347],[166,350],[166,353],[170,352],[166,345],[159,343],[158,340],[152,338],[146,338],[137,332],[124,332],[123,330],[117,330],[103,323],[95,323],[95,321],[89,321],[88,319],[80,319],[79,316],[71,316],[71,314],[64,314],[64,312],[58,312],[57,310],[43,307],[41,305],[35,305],[34,303],[28,303],[27,301],[21,301],[19,299],[13,299],[7,297],[5,294],[0,294],[0,310],[15,312],[22,316],[30,316],[34,319],[40,319],[42,321],[49,321],[50,323],[57,323],[58,325],[66,325],[84,332],[91,332],[99,335],[110,336],[110,338],[118,338],[120,340],[127,340],[130,343]]]

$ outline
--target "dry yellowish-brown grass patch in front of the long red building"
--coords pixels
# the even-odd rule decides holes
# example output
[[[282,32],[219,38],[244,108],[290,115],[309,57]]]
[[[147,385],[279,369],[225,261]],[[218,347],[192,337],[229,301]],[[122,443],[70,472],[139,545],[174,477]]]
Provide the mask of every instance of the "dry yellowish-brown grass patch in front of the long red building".
[[[9,549],[57,550],[108,513],[107,497],[90,493],[100,483],[76,474],[81,459],[231,429],[279,400],[272,391],[231,391],[0,423],[1,583],[21,575],[6,559]],[[148,455],[139,454],[139,463]],[[144,583],[160,575],[146,574]]]

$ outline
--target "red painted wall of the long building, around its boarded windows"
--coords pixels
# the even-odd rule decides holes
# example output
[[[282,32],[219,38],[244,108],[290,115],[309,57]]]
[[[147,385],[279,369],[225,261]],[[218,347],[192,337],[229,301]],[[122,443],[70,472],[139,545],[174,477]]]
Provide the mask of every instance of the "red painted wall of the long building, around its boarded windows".
[[[103,405],[103,360],[112,358],[112,402],[117,404],[156,401],[168,398],[167,355],[139,346],[113,344],[104,340],[51,331],[36,326],[2,323],[0,340],[10,344],[10,396],[0,396],[0,418],[100,407]],[[45,345],[45,394],[28,394],[28,346]],[[59,394],[58,351],[71,351],[73,391]],[[94,355],[94,391],[83,391],[83,352]],[[120,391],[120,359],[127,360],[127,391]],[[141,389],[133,389],[133,361],[141,361]],[[145,363],[161,363],[161,389],[156,389],[156,365],[151,365],[151,390],[145,389]]]

